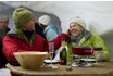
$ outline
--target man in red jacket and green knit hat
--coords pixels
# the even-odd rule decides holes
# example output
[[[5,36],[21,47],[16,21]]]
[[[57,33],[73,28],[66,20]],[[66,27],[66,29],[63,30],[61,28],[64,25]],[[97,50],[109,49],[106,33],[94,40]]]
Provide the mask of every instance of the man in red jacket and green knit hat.
[[[48,51],[48,41],[35,33],[35,16],[26,8],[17,8],[13,12],[14,29],[3,38],[3,53],[8,61],[15,61],[14,52]],[[11,74],[12,76],[20,76]]]

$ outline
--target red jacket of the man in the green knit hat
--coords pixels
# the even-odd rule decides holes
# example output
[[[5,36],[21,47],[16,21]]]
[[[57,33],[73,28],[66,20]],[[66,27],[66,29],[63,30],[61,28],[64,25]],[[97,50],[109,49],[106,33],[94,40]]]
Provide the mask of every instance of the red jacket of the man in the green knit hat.
[[[48,41],[35,34],[30,45],[16,34],[7,35],[3,38],[3,53],[8,61],[14,61],[13,53],[20,51],[48,51]]]

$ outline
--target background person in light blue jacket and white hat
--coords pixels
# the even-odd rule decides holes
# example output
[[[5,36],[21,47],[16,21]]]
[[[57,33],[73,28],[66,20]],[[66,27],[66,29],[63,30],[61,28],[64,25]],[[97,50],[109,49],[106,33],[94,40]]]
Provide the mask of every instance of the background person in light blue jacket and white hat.
[[[38,18],[38,24],[41,27],[41,30],[48,41],[52,41],[61,34],[61,29],[52,23],[52,20],[49,15],[40,16]]]

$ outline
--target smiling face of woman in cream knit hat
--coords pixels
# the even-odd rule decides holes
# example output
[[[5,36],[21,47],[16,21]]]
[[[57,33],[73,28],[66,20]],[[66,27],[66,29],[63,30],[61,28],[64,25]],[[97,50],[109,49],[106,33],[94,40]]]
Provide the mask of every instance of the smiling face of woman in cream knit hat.
[[[70,24],[70,33],[72,36],[78,37],[83,33],[83,30],[84,30],[84,27],[80,26],[79,24],[74,22]]]

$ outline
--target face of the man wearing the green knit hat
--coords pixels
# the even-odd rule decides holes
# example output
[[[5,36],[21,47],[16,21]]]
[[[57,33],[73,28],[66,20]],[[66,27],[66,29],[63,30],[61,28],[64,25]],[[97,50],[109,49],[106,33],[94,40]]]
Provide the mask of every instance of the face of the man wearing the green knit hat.
[[[35,30],[35,18],[32,18],[29,22],[24,24],[23,30],[29,30],[29,31]]]

